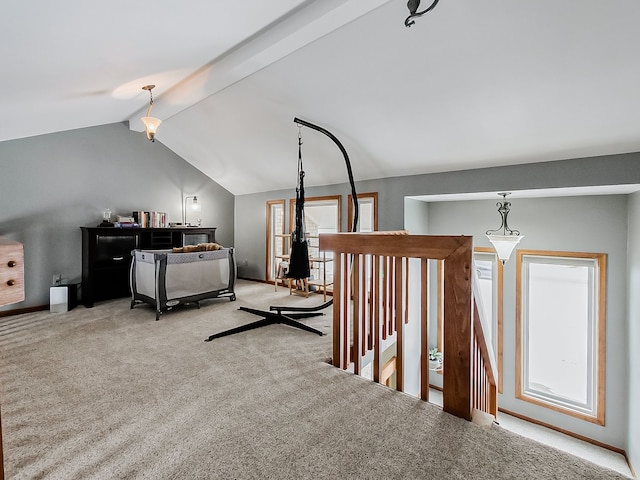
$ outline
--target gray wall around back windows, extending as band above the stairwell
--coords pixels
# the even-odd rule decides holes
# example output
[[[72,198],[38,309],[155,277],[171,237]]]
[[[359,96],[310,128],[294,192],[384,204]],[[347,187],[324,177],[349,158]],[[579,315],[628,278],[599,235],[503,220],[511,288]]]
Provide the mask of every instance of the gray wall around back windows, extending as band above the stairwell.
[[[353,175],[357,179],[358,171],[366,169],[366,165],[359,165],[357,159],[352,159],[352,163]],[[328,160],[326,164],[344,168],[339,157]],[[305,181],[310,185],[313,179],[305,178]],[[379,230],[404,228],[407,196],[625,184],[640,184],[640,153],[356,182],[358,193],[378,192]],[[306,188],[307,197],[342,195],[342,231],[348,230],[349,193],[351,190],[347,183]],[[285,199],[288,202],[290,198],[295,198],[294,184],[290,190],[236,197],[235,246],[240,259],[240,276],[256,280],[266,278],[265,204],[267,200]],[[499,218],[497,223],[499,225]]]

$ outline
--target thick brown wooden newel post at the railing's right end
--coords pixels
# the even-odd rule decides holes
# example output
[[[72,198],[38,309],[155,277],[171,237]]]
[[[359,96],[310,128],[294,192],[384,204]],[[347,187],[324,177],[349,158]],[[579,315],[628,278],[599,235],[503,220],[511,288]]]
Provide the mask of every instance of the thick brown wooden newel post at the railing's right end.
[[[443,410],[471,420],[472,237],[444,261]]]

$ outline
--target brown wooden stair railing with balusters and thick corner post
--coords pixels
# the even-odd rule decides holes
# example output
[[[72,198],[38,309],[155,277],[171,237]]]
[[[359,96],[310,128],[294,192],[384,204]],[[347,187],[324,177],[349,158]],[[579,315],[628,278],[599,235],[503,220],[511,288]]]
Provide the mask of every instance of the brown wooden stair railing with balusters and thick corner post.
[[[467,420],[474,408],[495,415],[495,362],[473,315],[472,248],[465,236],[320,235],[320,250],[334,253],[333,365],[360,374],[363,356],[372,351],[373,380],[380,382],[383,343],[393,340],[396,389],[404,391],[405,330],[419,321],[419,394],[428,401],[428,260],[444,260],[443,409]],[[410,290],[420,298],[410,298]]]

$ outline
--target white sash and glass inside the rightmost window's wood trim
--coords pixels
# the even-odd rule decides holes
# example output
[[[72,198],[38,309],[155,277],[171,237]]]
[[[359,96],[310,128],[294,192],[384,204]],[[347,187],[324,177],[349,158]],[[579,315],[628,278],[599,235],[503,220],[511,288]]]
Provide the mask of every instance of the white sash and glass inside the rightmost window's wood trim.
[[[595,413],[597,261],[525,256],[524,390]]]

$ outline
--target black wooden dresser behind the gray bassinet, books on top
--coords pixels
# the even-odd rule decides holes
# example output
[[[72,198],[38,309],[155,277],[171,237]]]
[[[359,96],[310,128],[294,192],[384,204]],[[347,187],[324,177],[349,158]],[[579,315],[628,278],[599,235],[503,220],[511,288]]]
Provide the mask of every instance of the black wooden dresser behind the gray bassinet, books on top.
[[[216,229],[80,227],[82,230],[82,303],[131,294],[131,251],[169,249],[216,241]]]

